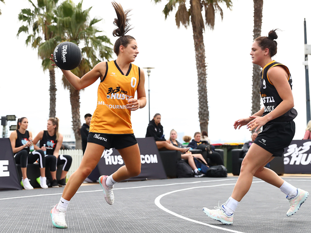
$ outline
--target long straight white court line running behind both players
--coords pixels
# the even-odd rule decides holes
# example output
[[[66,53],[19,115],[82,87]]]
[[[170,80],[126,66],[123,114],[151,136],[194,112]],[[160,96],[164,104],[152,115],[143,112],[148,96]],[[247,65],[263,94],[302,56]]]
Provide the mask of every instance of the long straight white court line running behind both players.
[[[171,186],[171,185],[179,185],[179,184],[207,183],[207,182],[232,181],[232,180],[237,180],[237,178],[236,179],[221,179],[221,180],[213,180],[213,181],[195,181],[195,182],[168,183],[168,184],[156,184],[156,185],[146,185],[146,186],[137,186],[137,187],[114,188],[113,190],[134,189],[134,188],[149,188],[149,187]],[[79,191],[79,192],[76,192],[76,193],[90,193],[90,192],[99,192],[99,191],[103,191],[103,189],[90,190],[90,191]],[[53,196],[53,195],[62,195],[62,194],[63,193],[38,194],[38,195],[32,195],[32,196],[20,196],[20,197],[13,197],[13,198],[1,198],[0,200],[10,200],[10,199],[19,199],[19,198],[34,198],[34,197],[44,197],[44,196]]]

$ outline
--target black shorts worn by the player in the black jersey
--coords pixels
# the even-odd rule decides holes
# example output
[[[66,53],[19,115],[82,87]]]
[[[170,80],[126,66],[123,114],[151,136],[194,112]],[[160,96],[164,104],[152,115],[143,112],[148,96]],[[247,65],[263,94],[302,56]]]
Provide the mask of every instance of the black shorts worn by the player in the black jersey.
[[[268,122],[258,134],[254,143],[275,157],[281,157],[284,148],[288,147],[295,135],[295,122]]]

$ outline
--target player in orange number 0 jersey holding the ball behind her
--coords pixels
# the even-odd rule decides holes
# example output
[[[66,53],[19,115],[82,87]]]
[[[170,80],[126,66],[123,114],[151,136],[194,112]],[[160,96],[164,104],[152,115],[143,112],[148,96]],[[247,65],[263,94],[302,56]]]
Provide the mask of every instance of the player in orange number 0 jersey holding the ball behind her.
[[[112,175],[99,178],[108,204],[114,203],[112,188],[115,183],[140,173],[140,151],[132,130],[131,111],[146,105],[145,76],[143,70],[132,64],[138,55],[138,45],[134,37],[125,35],[130,30],[129,10],[123,11],[116,2],[112,5],[118,17],[114,20],[118,28],[113,32],[114,36],[119,36],[114,45],[117,60],[100,62],[81,79],[68,70],[62,70],[76,90],[86,88],[98,78],[101,83],[82,162],[70,176],[59,203],[51,210],[52,223],[57,228],[67,228],[65,213],[69,201],[98,164],[104,149],[117,149],[125,164]],[[137,99],[134,99],[136,91]]]

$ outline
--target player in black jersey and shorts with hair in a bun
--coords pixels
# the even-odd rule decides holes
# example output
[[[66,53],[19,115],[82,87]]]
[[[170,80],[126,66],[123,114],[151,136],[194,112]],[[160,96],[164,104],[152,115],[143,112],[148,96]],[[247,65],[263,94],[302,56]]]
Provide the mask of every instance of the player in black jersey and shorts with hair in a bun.
[[[248,192],[253,176],[278,187],[287,195],[286,198],[290,202],[287,216],[294,215],[309,196],[307,191],[297,189],[282,180],[273,170],[264,167],[274,157],[281,157],[284,148],[290,145],[295,134],[293,119],[297,116],[294,109],[290,71],[286,66],[271,58],[276,55],[277,50],[275,31],[270,31],[268,36],[256,38],[250,53],[253,63],[262,67],[260,96],[264,107],[253,116],[234,122],[235,129],[247,125],[250,131],[258,131],[260,127],[263,127],[263,131],[258,134],[243,159],[241,173],[231,197],[216,210],[203,208],[203,212],[208,217],[223,224],[233,223],[233,213]]]

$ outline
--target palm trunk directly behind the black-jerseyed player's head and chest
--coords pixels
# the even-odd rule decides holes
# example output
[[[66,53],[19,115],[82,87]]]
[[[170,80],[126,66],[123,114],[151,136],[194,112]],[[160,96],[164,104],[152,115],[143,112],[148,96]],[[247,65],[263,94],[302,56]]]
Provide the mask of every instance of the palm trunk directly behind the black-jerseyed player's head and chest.
[[[263,0],[254,0],[254,40],[261,34]],[[260,110],[260,67],[253,64],[252,115]]]

